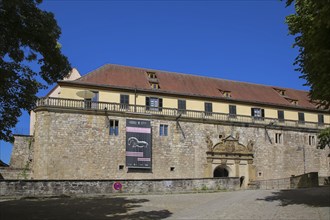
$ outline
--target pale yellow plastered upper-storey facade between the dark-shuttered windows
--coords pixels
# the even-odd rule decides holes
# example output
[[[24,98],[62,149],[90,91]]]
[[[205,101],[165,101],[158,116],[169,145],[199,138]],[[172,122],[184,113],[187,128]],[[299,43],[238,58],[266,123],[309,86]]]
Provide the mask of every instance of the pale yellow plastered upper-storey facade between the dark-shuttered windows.
[[[59,94],[60,98],[66,99],[83,99],[77,95],[78,91],[87,90],[86,88],[77,88],[77,87],[68,87],[62,86],[61,93]],[[229,113],[229,105],[236,106],[237,115],[242,116],[251,116],[251,108],[262,108],[265,110],[266,118],[278,118],[278,110],[284,111],[284,119],[285,120],[298,120],[298,112],[303,112],[305,116],[306,122],[318,122],[318,113],[304,112],[304,111],[295,111],[295,110],[287,110],[282,108],[274,108],[274,107],[261,107],[258,105],[244,105],[244,104],[234,104],[229,102],[221,102],[221,101],[209,101],[209,100],[201,100],[201,99],[192,99],[192,98],[175,98],[170,96],[159,96],[158,94],[150,95],[134,92],[118,92],[112,90],[95,90],[91,89],[90,91],[98,91],[99,93],[99,101],[100,102],[111,102],[111,103],[120,103],[120,95],[129,95],[129,104],[131,105],[140,105],[144,106],[146,104],[146,97],[158,97],[163,99],[163,108],[178,108],[178,100],[186,100],[186,109],[194,110],[194,111],[204,111],[204,103],[209,102],[212,103],[212,110],[215,113]],[[135,103],[136,102],[136,103]],[[330,115],[324,114],[324,123],[330,123]]]

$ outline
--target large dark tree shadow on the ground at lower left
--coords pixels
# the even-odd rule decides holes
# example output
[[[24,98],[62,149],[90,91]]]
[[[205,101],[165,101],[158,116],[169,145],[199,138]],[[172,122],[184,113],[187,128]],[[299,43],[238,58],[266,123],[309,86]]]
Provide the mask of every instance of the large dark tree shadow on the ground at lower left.
[[[163,219],[168,210],[134,211],[147,199],[48,198],[0,202],[1,219]]]

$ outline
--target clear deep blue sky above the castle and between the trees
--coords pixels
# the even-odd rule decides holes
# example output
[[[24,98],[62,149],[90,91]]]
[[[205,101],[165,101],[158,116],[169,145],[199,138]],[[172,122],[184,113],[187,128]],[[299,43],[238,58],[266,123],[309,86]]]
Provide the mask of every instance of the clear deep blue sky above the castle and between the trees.
[[[60,43],[86,74],[106,63],[308,90],[294,71],[297,49],[278,0],[44,0],[62,29]],[[44,96],[50,90],[39,92]],[[15,133],[27,134],[24,112]],[[0,143],[9,163],[12,144]]]

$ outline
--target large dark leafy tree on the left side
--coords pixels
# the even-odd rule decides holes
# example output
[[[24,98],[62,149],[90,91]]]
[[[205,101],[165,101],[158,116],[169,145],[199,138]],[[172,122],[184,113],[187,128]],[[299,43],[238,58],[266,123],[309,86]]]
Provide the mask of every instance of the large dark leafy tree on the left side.
[[[71,69],[58,43],[61,29],[41,2],[0,0],[0,140],[13,141],[11,128],[33,108],[38,90]]]

